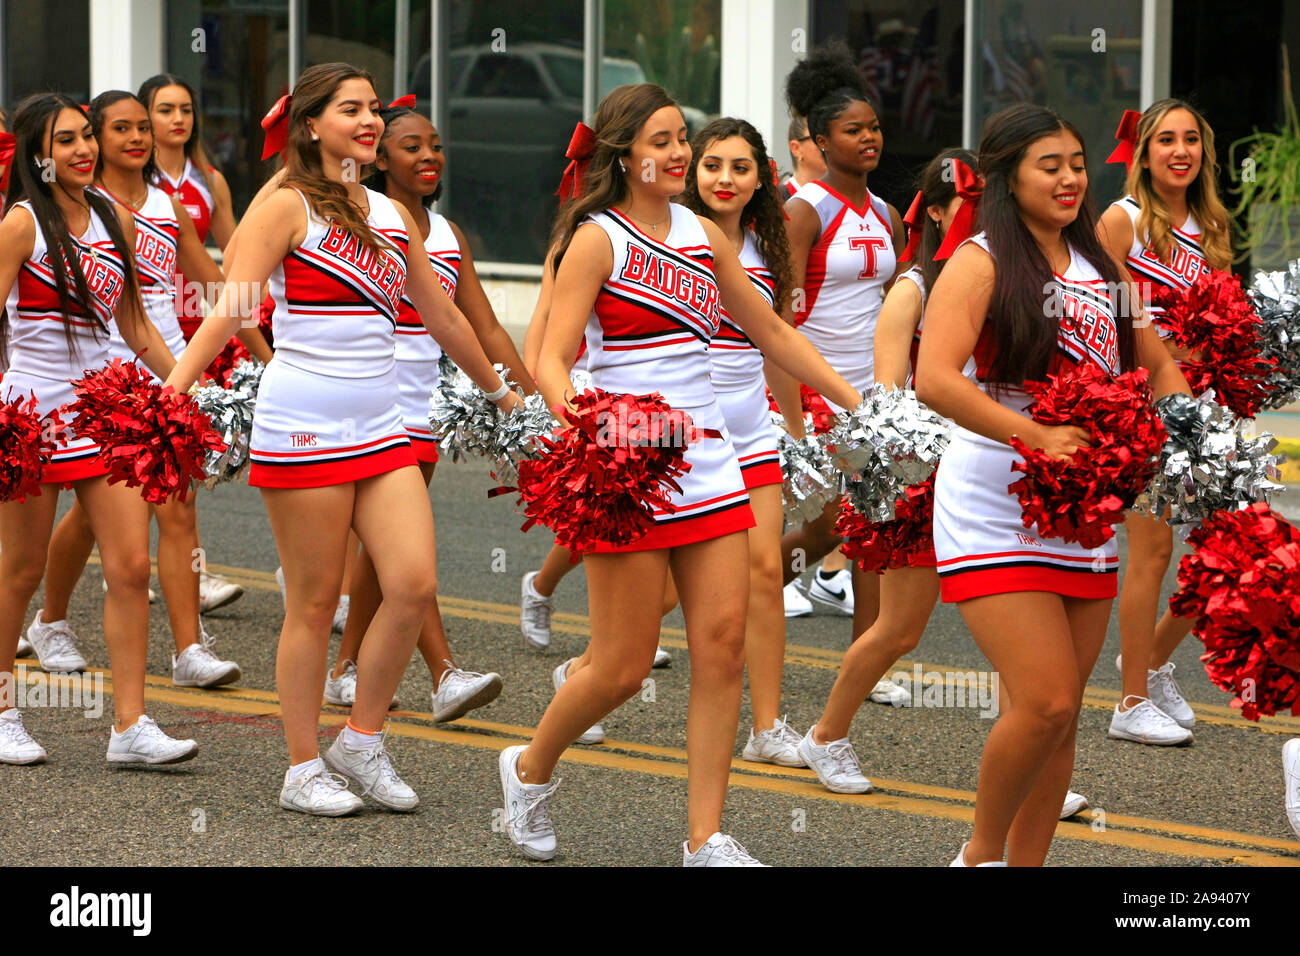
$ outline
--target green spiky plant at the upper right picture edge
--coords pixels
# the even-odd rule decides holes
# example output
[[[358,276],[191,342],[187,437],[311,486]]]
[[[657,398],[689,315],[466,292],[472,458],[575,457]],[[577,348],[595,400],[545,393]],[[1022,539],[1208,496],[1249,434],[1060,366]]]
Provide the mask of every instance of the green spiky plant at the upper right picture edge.
[[[1279,233],[1282,255],[1291,259],[1294,252],[1300,254],[1300,235],[1291,232],[1292,212],[1300,206],[1300,116],[1291,96],[1286,44],[1282,44],[1282,101],[1284,117],[1275,131],[1262,133],[1256,127],[1228,150],[1232,193],[1240,196],[1232,215],[1251,209],[1251,228],[1244,233],[1236,261],[1269,245]],[[1239,147],[1248,150],[1240,163],[1236,160]]]

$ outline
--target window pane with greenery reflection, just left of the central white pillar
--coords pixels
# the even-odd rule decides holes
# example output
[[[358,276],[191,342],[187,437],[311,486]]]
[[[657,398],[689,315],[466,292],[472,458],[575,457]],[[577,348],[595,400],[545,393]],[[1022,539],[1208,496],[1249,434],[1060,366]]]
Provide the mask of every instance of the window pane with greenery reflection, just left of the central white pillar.
[[[604,0],[601,95],[658,83],[681,104],[692,135],[718,116],[722,0]]]

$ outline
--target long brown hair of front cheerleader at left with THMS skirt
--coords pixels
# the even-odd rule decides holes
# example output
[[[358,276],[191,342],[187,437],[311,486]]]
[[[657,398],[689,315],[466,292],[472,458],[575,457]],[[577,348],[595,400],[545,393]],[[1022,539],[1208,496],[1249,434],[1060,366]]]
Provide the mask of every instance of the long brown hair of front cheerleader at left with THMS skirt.
[[[393,248],[393,243],[378,235],[365,221],[365,213],[351,200],[343,183],[325,176],[321,165],[320,143],[312,142],[307,120],[325,112],[338,87],[346,79],[360,78],[372,87],[374,79],[363,69],[346,62],[326,62],[308,66],[294,85],[294,103],[289,109],[289,142],[285,150],[285,186],[295,186],[322,220],[333,220],[352,233],[370,252],[380,247]],[[382,134],[382,130],[377,130]],[[360,181],[360,170],[358,170]]]

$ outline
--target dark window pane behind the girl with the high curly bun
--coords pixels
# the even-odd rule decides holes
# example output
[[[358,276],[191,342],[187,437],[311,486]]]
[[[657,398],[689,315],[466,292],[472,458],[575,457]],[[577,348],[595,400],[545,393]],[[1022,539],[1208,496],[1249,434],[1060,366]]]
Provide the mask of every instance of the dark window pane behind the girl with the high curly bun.
[[[871,191],[904,211],[920,169],[962,142],[963,0],[814,0],[815,44],[842,39],[881,111]]]

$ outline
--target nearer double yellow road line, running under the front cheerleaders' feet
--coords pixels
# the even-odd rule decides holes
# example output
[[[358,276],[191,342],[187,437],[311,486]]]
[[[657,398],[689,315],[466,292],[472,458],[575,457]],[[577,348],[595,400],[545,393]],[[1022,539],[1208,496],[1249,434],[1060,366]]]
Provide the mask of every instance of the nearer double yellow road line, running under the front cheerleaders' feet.
[[[112,693],[112,675],[100,669],[88,669],[90,675],[104,679],[104,692]],[[40,676],[27,671],[27,680]],[[173,687],[168,678],[146,676],[146,700],[174,704],[183,708],[214,710],[243,715],[280,715],[280,700],[270,691],[255,688],[220,688],[200,691],[196,688]],[[321,723],[338,726],[347,719],[342,709],[325,709]],[[462,718],[458,730],[442,730],[428,726],[432,714],[419,711],[394,711],[387,732],[394,736],[413,737],[460,747],[500,750],[516,740],[530,740],[533,727]],[[502,736],[488,736],[499,734]],[[686,753],[671,747],[658,747],[637,741],[606,740],[599,748],[569,748],[564,760],[575,763],[602,766],[614,770],[647,773],[656,777],[685,779]],[[855,804],[867,809],[884,809],[909,816],[922,816],[939,819],[974,819],[972,804],[975,795],[970,791],[913,783],[909,780],[889,780],[876,778],[878,791],[868,795],[831,793],[818,782],[811,770],[779,767],[732,760],[733,773],[729,786],[744,790],[757,790],[785,796],[800,796],[812,800],[828,800],[840,804]],[[1300,866],[1300,843],[1279,840],[1256,834],[1243,834],[1231,830],[1217,830],[1173,821],[1149,819],[1124,814],[1106,813],[1106,829],[1093,831],[1087,823],[1063,822],[1057,834],[1066,839],[1106,843],[1153,853],[1167,853],[1180,857],[1218,860],[1258,866]],[[1206,843],[1210,842],[1210,843]],[[1234,847],[1219,843],[1238,844]],[[1243,851],[1240,847],[1248,849]],[[1277,856],[1262,851],[1277,849],[1291,856]]]

